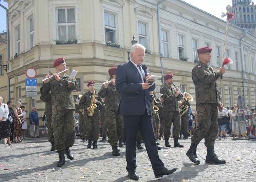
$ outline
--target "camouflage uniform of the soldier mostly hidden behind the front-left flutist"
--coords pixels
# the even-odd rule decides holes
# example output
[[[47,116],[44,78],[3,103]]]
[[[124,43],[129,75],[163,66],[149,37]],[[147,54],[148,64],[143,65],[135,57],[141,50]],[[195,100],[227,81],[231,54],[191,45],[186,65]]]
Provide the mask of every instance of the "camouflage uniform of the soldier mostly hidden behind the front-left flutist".
[[[49,90],[50,88],[45,87],[45,89]],[[52,96],[49,92],[45,96],[42,95],[43,86],[41,86],[40,88],[40,93],[41,93],[40,99],[43,102],[45,102],[45,115],[46,115],[47,128],[48,128],[48,141],[52,143],[54,142],[53,127],[52,127]]]

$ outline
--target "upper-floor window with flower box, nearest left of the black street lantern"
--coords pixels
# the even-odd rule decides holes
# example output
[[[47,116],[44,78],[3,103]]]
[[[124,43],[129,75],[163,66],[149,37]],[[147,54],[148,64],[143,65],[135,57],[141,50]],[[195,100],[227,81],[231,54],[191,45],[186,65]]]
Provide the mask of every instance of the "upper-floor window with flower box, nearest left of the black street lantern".
[[[115,15],[104,12],[105,42],[116,42]]]

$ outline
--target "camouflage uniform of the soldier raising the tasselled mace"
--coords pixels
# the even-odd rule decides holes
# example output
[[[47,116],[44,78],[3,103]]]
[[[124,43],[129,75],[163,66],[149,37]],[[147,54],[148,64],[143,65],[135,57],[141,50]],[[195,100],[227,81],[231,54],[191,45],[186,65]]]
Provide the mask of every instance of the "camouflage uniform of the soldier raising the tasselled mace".
[[[222,73],[214,72],[213,68],[201,61],[192,70],[192,79],[196,91],[196,111],[198,126],[191,142],[198,145],[204,138],[206,147],[213,147],[218,133],[218,103],[220,92],[217,79]]]

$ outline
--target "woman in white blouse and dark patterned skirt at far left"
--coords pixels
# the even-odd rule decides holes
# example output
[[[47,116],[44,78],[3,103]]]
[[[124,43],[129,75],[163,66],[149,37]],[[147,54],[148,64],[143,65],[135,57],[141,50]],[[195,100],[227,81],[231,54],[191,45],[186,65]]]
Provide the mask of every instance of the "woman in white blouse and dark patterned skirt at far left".
[[[7,120],[9,109],[8,105],[2,102],[3,98],[0,96],[0,138],[4,141],[4,144],[8,141],[8,145],[11,147],[10,135],[12,132],[8,123],[9,121]]]

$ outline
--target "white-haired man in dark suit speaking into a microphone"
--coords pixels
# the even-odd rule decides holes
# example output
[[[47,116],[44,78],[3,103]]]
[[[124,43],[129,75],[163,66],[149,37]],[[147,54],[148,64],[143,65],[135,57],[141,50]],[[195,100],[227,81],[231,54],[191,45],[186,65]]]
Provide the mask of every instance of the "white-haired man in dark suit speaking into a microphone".
[[[136,173],[136,138],[138,130],[145,143],[147,153],[154,170],[155,177],[169,175],[176,171],[166,169],[160,160],[155,142],[149,91],[155,89],[155,84],[145,83],[149,78],[141,68],[144,60],[145,47],[135,44],[130,51],[128,63],[120,64],[116,70],[116,90],[121,93],[119,114],[123,115],[126,133],[126,169],[130,179],[138,180]],[[147,72],[149,70],[147,69]]]

